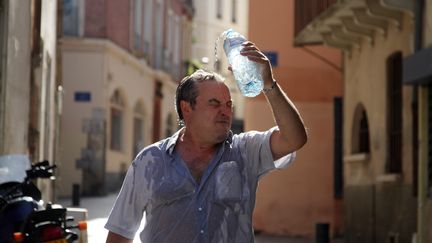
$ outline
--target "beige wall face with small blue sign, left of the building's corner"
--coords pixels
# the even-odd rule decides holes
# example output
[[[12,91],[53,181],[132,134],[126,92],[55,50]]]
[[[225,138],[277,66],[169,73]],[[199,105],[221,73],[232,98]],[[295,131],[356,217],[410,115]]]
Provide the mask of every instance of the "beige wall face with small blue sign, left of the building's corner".
[[[61,160],[56,185],[58,195],[70,195],[72,184],[81,184],[81,170],[76,168],[76,160],[81,157],[81,150],[87,143],[87,135],[83,132],[83,120],[91,118],[92,109],[102,107],[104,75],[102,67],[104,57],[100,48],[80,50],[77,43],[62,40],[62,72],[63,72],[63,115],[62,139],[60,142]],[[99,50],[98,50],[99,49]],[[74,101],[76,91],[90,91],[90,103]]]

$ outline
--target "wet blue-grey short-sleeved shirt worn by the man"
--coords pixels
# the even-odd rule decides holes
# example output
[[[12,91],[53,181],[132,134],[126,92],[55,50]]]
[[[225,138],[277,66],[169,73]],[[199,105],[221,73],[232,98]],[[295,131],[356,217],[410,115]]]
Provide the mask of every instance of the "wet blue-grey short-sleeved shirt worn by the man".
[[[258,180],[295,158],[273,161],[275,129],[231,134],[199,184],[174,149],[179,132],[150,145],[130,166],[105,228],[133,239],[145,212],[142,242],[253,242]]]

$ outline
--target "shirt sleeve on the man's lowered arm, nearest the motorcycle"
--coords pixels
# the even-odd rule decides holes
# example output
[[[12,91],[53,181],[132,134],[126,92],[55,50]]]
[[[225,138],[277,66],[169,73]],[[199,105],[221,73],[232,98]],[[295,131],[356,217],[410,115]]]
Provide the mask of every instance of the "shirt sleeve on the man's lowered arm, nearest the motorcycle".
[[[135,161],[129,167],[122,188],[108,217],[105,228],[128,239],[133,239],[138,230],[144,209],[145,192],[138,180],[138,163]]]

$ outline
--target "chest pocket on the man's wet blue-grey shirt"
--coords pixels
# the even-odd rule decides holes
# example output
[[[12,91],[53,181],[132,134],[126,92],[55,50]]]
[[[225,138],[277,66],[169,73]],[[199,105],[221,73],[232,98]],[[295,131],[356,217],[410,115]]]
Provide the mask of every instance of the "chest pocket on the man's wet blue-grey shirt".
[[[236,161],[221,163],[215,172],[215,201],[235,203],[242,199],[242,177]]]

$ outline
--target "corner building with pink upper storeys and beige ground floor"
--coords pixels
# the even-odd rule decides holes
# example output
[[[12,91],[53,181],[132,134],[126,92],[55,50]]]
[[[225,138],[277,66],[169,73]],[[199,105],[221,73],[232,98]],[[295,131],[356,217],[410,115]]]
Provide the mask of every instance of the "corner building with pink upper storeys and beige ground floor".
[[[190,0],[63,1],[60,196],[118,190],[137,152],[177,130],[193,14]]]

